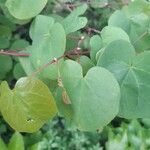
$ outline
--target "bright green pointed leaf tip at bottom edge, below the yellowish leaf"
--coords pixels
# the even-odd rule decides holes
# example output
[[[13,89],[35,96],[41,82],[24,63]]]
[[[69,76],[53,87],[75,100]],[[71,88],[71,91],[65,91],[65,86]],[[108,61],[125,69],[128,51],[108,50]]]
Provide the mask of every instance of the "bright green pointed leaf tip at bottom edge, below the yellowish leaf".
[[[24,149],[25,147],[24,147],[23,136],[20,133],[15,132],[8,144],[8,150],[24,150]]]

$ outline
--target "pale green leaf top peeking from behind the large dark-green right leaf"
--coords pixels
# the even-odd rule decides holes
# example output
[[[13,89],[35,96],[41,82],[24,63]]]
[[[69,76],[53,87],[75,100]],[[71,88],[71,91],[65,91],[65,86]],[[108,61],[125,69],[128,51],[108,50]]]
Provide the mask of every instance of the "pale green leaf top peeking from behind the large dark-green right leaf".
[[[101,31],[101,37],[104,45],[107,45],[112,41],[121,40],[121,39],[130,41],[129,36],[124,30],[112,26],[106,26],[105,28],[103,28],[103,30]]]

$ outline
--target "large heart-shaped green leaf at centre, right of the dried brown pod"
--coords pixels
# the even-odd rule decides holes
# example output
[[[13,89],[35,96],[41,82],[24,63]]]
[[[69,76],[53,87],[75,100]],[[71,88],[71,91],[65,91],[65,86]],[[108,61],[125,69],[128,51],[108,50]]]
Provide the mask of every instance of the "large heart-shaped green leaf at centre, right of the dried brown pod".
[[[106,69],[93,67],[83,77],[81,66],[68,60],[62,67],[61,80],[71,103],[73,126],[83,131],[96,131],[117,115],[120,89]]]

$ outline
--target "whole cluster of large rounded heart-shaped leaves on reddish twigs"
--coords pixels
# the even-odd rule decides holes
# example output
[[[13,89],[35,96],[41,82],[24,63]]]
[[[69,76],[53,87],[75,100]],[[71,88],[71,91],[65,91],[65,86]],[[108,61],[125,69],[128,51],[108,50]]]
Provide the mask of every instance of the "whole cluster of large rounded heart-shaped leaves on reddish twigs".
[[[60,4],[70,13],[54,13]],[[0,51],[1,80],[15,64],[14,88],[6,81],[0,85],[1,114],[13,129],[35,132],[59,115],[71,128],[96,132],[116,116],[150,117],[150,3],[118,5],[101,31],[88,27],[86,11],[113,5],[0,2],[0,48],[9,47],[13,32],[29,32],[26,40],[13,37],[10,52]]]

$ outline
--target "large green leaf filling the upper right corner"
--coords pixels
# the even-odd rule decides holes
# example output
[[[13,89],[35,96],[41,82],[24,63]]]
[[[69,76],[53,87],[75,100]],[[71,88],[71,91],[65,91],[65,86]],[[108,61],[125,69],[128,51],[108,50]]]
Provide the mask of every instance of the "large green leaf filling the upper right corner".
[[[137,52],[150,49],[150,18],[144,11],[147,8],[150,10],[150,5],[144,3],[147,2],[137,0],[128,7],[126,6],[122,10],[117,10],[111,15],[108,21],[109,26],[120,27],[127,32]]]

